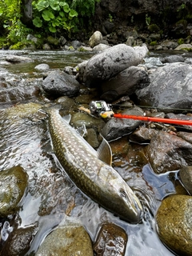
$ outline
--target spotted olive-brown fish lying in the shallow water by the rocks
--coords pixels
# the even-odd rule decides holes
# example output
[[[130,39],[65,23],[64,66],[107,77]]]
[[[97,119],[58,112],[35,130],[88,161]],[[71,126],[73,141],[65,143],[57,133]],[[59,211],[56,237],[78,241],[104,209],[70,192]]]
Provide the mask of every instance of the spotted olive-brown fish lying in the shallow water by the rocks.
[[[122,220],[138,223],[142,219],[142,204],[111,166],[112,154],[106,139],[98,150],[70,126],[70,117],[62,118],[59,110],[50,108],[49,130],[58,162],[72,182],[86,196]]]

